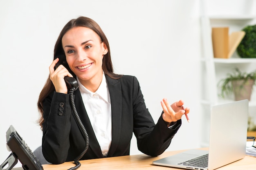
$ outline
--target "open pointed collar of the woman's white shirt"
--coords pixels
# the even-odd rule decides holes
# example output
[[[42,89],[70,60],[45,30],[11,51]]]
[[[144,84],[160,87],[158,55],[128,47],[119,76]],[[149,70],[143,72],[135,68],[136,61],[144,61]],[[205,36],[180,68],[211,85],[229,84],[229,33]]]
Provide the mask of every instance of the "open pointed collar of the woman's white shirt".
[[[86,94],[85,96],[86,96],[87,100],[89,98],[91,98],[92,95],[98,94],[103,100],[110,103],[110,95],[108,92],[108,85],[106,82],[105,74],[103,74],[101,84],[99,85],[99,88],[97,89],[97,91],[95,93],[91,92],[85,86],[83,86],[82,83],[79,81],[79,78],[77,78],[77,82],[78,82],[79,90],[80,90],[81,94]]]

